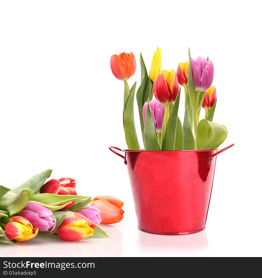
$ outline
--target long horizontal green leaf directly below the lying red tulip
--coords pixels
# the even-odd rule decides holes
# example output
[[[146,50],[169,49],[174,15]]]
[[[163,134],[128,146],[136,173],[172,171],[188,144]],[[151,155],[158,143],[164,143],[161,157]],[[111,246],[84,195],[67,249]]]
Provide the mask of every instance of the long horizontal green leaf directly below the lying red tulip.
[[[86,198],[88,198],[88,196],[40,193],[40,194],[30,195],[28,199],[29,201],[37,201],[46,205],[57,206],[63,203],[73,202],[76,200],[84,200]]]

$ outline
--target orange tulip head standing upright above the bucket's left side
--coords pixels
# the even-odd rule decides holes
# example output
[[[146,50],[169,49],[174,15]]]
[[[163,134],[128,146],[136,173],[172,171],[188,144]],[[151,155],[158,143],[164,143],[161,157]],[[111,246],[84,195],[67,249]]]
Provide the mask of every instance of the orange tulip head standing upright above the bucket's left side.
[[[133,52],[120,53],[113,55],[110,59],[110,67],[115,78],[125,81],[134,75],[136,69],[136,61]]]

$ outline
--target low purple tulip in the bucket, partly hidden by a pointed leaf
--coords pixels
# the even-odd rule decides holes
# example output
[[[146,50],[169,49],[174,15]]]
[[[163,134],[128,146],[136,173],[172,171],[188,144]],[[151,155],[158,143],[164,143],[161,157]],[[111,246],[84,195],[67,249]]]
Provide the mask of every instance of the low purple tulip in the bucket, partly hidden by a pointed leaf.
[[[143,106],[143,120],[145,124],[145,118],[146,118],[146,107],[147,102],[144,103]],[[152,99],[152,101],[149,102],[149,109],[154,121],[154,125],[156,128],[157,133],[160,133],[162,130],[162,123],[165,113],[165,106],[161,104],[157,99]]]

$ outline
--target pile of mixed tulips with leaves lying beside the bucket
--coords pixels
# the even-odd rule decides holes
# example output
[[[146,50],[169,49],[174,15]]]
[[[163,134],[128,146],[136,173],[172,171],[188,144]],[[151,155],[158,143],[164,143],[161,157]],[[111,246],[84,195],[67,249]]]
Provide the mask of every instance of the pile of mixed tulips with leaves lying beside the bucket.
[[[57,234],[64,241],[109,237],[97,224],[123,219],[123,202],[111,196],[79,196],[72,178],[52,179],[52,170],[13,189],[0,186],[0,243]]]

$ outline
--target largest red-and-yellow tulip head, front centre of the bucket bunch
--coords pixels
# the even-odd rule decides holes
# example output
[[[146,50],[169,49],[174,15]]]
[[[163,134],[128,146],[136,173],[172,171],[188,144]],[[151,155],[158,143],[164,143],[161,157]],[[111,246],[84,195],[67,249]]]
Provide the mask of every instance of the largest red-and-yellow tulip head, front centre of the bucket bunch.
[[[156,99],[163,105],[168,106],[176,100],[179,85],[174,69],[171,72],[161,70],[154,85]]]

